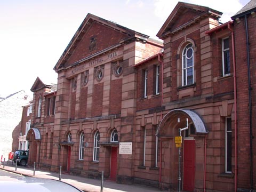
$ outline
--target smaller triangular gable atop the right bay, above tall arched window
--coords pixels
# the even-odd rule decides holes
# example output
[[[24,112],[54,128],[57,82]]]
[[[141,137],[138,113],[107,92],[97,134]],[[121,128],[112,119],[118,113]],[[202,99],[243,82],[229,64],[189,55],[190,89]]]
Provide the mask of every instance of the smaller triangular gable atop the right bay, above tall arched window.
[[[218,19],[221,15],[221,12],[210,9],[209,7],[179,2],[174,7],[156,36],[164,39],[165,35],[175,33],[183,28],[193,25],[193,23],[205,18],[205,16]]]

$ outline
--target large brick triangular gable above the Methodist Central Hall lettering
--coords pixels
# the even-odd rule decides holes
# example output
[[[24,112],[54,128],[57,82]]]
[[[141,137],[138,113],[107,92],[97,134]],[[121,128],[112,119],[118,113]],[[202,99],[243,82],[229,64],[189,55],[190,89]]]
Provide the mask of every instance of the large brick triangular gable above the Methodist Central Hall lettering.
[[[107,51],[124,39],[134,37],[135,34],[139,33],[89,13],[61,55],[54,70],[61,70],[90,55]],[[148,38],[146,35],[139,35]]]

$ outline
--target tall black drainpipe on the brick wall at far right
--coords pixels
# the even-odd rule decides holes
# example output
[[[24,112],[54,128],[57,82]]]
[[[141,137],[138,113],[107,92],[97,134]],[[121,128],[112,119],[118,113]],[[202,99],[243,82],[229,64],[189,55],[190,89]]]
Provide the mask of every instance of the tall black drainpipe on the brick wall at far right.
[[[249,89],[249,111],[250,111],[250,185],[251,190],[253,190],[253,161],[252,161],[252,87],[251,87],[251,70],[250,70],[250,55],[249,55],[249,33],[248,33],[248,25],[247,25],[247,15],[245,18],[245,33],[246,33],[246,48],[247,48],[247,68],[248,68],[248,89]]]

